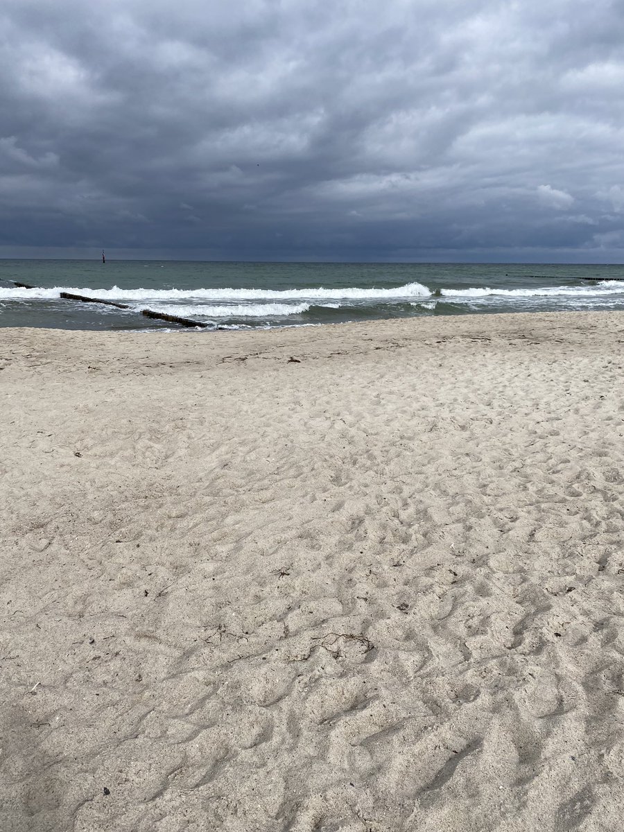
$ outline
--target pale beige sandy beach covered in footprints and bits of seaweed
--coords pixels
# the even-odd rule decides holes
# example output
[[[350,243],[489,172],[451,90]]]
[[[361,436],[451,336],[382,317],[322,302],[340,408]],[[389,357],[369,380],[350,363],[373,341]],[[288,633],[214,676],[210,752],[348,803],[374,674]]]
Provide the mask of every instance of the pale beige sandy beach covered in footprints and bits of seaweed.
[[[623,347],[0,329],[2,832],[622,830]]]

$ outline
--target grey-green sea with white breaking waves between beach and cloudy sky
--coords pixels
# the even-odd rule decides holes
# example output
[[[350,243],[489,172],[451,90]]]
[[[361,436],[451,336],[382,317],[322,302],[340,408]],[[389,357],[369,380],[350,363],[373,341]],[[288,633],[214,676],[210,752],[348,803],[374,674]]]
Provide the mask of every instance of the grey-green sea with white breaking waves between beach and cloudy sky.
[[[131,309],[63,300],[62,291]],[[177,329],[141,315],[146,309],[205,322],[207,331],[624,310],[624,265],[0,260],[0,326]]]

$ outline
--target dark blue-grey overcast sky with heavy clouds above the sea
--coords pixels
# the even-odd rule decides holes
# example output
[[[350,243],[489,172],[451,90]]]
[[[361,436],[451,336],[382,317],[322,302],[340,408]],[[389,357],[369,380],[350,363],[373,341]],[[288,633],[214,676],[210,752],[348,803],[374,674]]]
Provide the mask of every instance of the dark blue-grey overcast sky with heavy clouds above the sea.
[[[2,0],[0,256],[624,262],[624,0]]]

